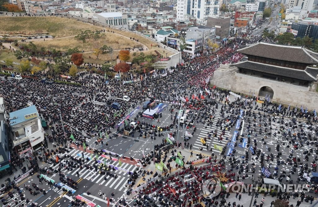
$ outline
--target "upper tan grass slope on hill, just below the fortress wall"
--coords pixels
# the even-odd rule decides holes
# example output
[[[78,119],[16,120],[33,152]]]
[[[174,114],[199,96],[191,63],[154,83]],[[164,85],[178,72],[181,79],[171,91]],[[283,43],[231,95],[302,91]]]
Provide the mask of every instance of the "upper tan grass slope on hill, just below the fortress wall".
[[[9,35],[49,34],[55,38],[77,35],[83,30],[104,28],[61,17],[0,17],[0,33]]]

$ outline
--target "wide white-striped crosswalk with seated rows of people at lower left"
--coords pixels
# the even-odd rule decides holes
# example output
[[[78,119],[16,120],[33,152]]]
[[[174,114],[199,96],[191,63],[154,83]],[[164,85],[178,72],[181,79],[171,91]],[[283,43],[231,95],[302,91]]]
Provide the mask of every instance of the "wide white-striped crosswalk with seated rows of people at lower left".
[[[68,153],[66,154],[63,154],[63,155],[59,155],[59,156],[64,156],[64,155],[70,155],[71,157],[76,157],[76,158],[82,158],[82,154],[84,154],[84,158],[88,158],[89,160],[85,161],[85,164],[93,164],[95,161],[93,159],[91,159],[91,154],[88,153],[88,152],[82,152],[80,151],[79,149],[72,149],[70,150]],[[94,158],[95,157],[95,154],[92,155],[92,157]],[[66,158],[68,159],[68,158]],[[102,161],[101,163],[104,163],[104,157],[102,157],[101,155],[98,156],[98,160]],[[66,163],[65,162],[65,159],[62,160],[61,162],[63,163]],[[118,168],[121,168],[121,169],[125,169],[127,171],[131,171],[131,172],[134,172],[138,167],[135,166],[135,165],[131,165],[131,164],[128,164],[128,163],[124,163],[122,162],[121,163],[121,166],[119,165],[119,162],[118,161],[110,161],[110,160],[107,160],[106,162],[107,164],[110,164],[110,165],[114,165],[114,167],[118,167]],[[59,165],[51,165],[50,167],[52,167],[53,169],[58,169]],[[72,170],[67,170],[66,168],[63,168],[61,170],[61,172],[63,172],[66,176],[76,176],[77,175],[77,172],[79,173],[79,177],[83,178],[83,179],[86,179],[88,181],[91,181],[93,183],[96,183],[98,185],[104,185],[104,186],[107,186],[111,189],[114,189],[114,190],[119,190],[119,191],[123,191],[123,192],[126,192],[126,188],[125,188],[125,185],[128,183],[128,179],[130,177],[130,175],[128,175],[127,173],[123,172],[123,170],[111,170],[110,172],[113,173],[113,174],[116,174],[118,177],[117,178],[114,178],[112,176],[109,176],[109,175],[103,175],[103,174],[100,174],[99,171],[101,169],[98,169],[97,168],[97,171],[93,168],[93,169],[87,169],[85,167],[83,167],[82,169],[81,168],[75,168],[75,169],[72,169]],[[104,178],[107,178],[106,180]]]

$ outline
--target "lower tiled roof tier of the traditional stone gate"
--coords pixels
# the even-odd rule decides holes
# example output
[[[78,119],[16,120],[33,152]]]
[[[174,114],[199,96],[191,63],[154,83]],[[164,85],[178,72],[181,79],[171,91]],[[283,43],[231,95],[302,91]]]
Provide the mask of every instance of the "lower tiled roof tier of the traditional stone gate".
[[[316,76],[314,75],[318,73],[318,69],[314,68],[307,67],[306,70],[299,70],[288,67],[267,65],[264,63],[257,63],[248,60],[234,63],[232,66],[306,81],[315,81]]]

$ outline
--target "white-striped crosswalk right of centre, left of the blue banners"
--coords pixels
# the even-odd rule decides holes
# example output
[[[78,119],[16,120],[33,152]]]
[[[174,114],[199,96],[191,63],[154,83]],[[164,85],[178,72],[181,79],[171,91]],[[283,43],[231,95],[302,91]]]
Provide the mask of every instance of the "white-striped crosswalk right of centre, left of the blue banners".
[[[228,130],[225,130],[225,135],[224,135],[224,138],[222,141],[218,141],[218,137],[213,137],[214,130],[218,130],[218,133],[220,133],[220,128],[216,126],[217,120],[222,119],[220,110],[219,111],[218,110],[214,112],[215,116],[214,116],[213,124],[210,126],[204,124],[203,128],[200,129],[200,132],[198,134],[199,136],[193,145],[194,149],[200,150],[201,148],[203,148],[203,150],[202,150],[203,152],[210,152],[210,148],[213,148],[214,144],[217,144],[218,146],[224,147],[227,143],[227,140],[225,138],[230,139],[230,131],[228,131]],[[225,116],[227,116],[227,115],[230,115],[230,114],[225,113]],[[206,146],[202,145],[200,140],[201,140],[201,138],[207,137],[209,134],[211,134],[212,136],[211,136],[211,139],[206,140],[206,145],[209,145],[209,147],[207,149]],[[214,150],[215,149],[213,148],[213,151]]]

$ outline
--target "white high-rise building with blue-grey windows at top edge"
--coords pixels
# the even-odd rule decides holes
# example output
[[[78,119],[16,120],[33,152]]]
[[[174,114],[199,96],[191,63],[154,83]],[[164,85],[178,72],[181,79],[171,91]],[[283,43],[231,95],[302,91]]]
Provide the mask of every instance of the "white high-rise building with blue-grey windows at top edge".
[[[189,16],[204,21],[208,16],[217,16],[221,0],[177,0],[177,20],[187,20]]]

